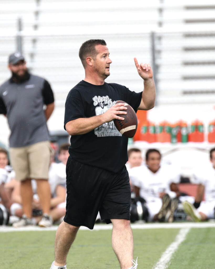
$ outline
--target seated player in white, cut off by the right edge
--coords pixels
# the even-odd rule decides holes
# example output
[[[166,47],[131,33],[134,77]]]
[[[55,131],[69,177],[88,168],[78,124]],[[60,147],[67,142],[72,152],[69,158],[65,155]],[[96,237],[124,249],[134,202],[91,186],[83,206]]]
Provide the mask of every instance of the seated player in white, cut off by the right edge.
[[[215,210],[215,148],[210,150],[210,165],[207,169],[201,169],[195,173],[198,188],[195,203],[188,201],[183,203],[184,211],[193,221],[205,221],[214,218]],[[202,201],[205,193],[205,201]]]

